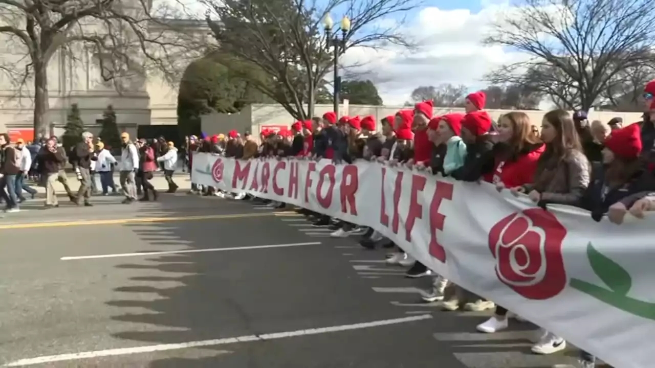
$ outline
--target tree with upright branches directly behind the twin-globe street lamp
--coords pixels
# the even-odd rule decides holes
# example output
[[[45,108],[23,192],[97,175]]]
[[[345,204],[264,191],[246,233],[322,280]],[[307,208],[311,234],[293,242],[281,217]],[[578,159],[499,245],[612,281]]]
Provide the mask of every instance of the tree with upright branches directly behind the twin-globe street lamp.
[[[312,2],[313,1],[313,2]],[[346,38],[345,50],[385,45],[411,46],[398,19],[415,0],[202,0],[212,12],[208,23],[228,58],[247,62],[236,68],[244,79],[280,103],[296,119],[314,114],[316,91],[333,68],[323,20],[331,12],[350,18],[350,29],[333,29]],[[212,21],[219,19],[219,22]],[[226,63],[228,67],[231,65]],[[241,64],[242,65],[242,64]]]

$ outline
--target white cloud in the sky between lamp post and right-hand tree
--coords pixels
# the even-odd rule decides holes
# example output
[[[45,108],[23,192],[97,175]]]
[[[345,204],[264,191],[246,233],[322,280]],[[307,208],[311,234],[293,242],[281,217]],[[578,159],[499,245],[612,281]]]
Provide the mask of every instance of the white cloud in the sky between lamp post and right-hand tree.
[[[465,84],[472,90],[485,86],[483,75],[496,67],[524,58],[482,41],[498,16],[511,12],[493,2],[477,13],[468,9],[422,9],[403,29],[419,43],[418,50],[352,48],[341,58],[349,70],[365,73],[377,85],[385,105],[402,105],[417,86]]]

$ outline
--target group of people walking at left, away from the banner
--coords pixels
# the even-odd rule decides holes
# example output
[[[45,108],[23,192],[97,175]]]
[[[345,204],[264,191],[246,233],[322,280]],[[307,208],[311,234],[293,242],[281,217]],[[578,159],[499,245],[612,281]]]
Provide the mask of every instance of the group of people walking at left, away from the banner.
[[[184,155],[180,155],[172,141],[166,142],[163,137],[131,141],[128,133],[122,133],[121,145],[120,160],[117,160],[111,147],[90,132],[81,134],[81,141],[69,149],[56,136],[28,144],[17,139],[12,144],[8,134],[0,134],[0,201],[5,203],[5,212],[20,211],[20,204],[26,200],[23,191],[35,198],[37,191],[29,186],[28,180],[45,187],[45,208],[59,207],[57,182],[78,206],[93,206],[92,194],[119,194],[114,183],[115,172],[119,172],[124,204],[157,200],[159,193],[150,182],[157,171],[164,172],[168,193],[178,190],[173,174],[179,156]],[[77,192],[71,191],[67,168],[77,175]]]

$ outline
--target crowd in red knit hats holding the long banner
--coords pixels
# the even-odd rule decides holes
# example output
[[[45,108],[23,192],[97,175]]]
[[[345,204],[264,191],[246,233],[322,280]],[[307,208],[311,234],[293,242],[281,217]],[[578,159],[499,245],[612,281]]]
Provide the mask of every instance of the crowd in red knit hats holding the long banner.
[[[512,111],[493,121],[485,111],[486,96],[475,92],[466,97],[465,113],[433,116],[432,101],[417,103],[381,119],[381,132],[372,116],[337,117],[329,112],[321,118],[298,121],[290,130],[261,132],[256,143],[246,132],[232,131],[198,141],[191,137],[189,149],[234,158],[289,157],[332,160],[336,164],[375,160],[389,166],[404,165],[434,175],[462,181],[487,181],[498,191],[527,195],[536,206],[565,204],[589,210],[595,221],[607,216],[621,224],[627,213],[643,218],[655,211],[655,81],[645,86],[643,120],[623,126],[620,118],[607,123],[589,122],[584,111],[572,115],[555,109],[540,122]],[[541,128],[537,128],[540,125]],[[193,160],[193,155],[191,155]],[[191,164],[191,162],[190,162]],[[190,193],[249,198],[214,188],[194,185]],[[283,203],[270,202],[279,208]],[[331,236],[350,236],[363,229],[357,224],[331,219],[307,209],[315,227],[331,227]],[[462,289],[412,259],[391,240],[368,229],[360,244],[369,249],[395,249],[386,263],[407,267],[405,276],[432,276],[433,287],[422,293],[426,302],[440,301],[444,310],[495,310],[477,326],[483,333],[509,327],[510,311]],[[518,320],[521,318],[515,316]],[[566,347],[563,337],[541,331],[532,351],[552,354]],[[557,368],[572,367],[557,365]],[[595,367],[595,358],[580,354],[582,368]]]

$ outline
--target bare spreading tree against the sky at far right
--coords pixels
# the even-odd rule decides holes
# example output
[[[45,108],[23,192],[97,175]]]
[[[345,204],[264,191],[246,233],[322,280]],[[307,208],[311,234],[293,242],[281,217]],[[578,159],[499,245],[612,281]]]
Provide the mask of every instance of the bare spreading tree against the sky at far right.
[[[529,60],[487,75],[493,84],[529,84],[562,107],[589,109],[626,69],[652,64],[650,0],[523,0],[495,24],[488,44]]]

